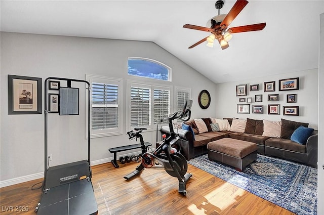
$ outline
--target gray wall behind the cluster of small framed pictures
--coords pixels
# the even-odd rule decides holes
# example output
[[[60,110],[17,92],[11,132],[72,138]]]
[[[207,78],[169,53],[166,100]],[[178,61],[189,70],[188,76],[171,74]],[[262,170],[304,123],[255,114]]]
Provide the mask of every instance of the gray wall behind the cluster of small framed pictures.
[[[279,79],[299,77],[299,90],[295,91],[279,91]],[[264,82],[275,81],[275,92],[263,92]],[[281,75],[272,75],[262,78],[250,80],[242,80],[239,82],[226,82],[217,84],[217,117],[237,117],[251,119],[267,119],[279,121],[281,118],[288,120],[308,122],[309,127],[317,129],[318,121],[318,69],[310,69],[306,71],[292,72]],[[247,96],[236,96],[236,85],[259,84],[259,91],[247,91]],[[268,94],[279,94],[279,101],[269,101]],[[287,94],[297,94],[296,103],[287,103]],[[262,102],[255,102],[255,95],[263,95]],[[238,102],[239,98],[252,97],[253,103],[250,104],[250,114],[239,114],[236,111],[237,104],[247,104]],[[268,104],[279,104],[280,114],[268,114]],[[252,105],[263,105],[263,114],[252,113]],[[299,116],[282,115],[284,106],[299,106]]]

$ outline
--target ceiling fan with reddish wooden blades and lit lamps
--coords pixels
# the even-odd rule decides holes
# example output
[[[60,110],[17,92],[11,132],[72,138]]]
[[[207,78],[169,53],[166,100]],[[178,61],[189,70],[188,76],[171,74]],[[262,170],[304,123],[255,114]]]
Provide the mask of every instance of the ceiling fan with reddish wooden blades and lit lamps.
[[[231,22],[235,19],[235,17],[245,8],[245,6],[249,2],[246,0],[237,0],[232,7],[232,9],[229,11],[229,13],[226,14],[219,14],[219,10],[223,7],[224,2],[219,0],[215,3],[216,9],[218,9],[218,15],[214,16],[209,20],[211,27],[201,27],[197,25],[190,25],[185,24],[184,28],[190,28],[195,30],[201,30],[201,31],[208,31],[212,34],[210,36],[205,37],[204,39],[201,39],[200,41],[196,42],[194,45],[190,46],[188,49],[191,49],[202,42],[207,40],[207,46],[213,47],[214,46],[214,40],[217,39],[220,47],[222,50],[227,49],[229,47],[228,40],[232,38],[231,33],[240,33],[240,32],[247,32],[247,31],[258,31],[262,30],[266,23],[259,23],[259,24],[253,24],[253,25],[244,25],[244,26],[238,26],[238,27],[231,27],[227,29],[227,27],[231,24]],[[207,23],[209,25],[209,23]]]

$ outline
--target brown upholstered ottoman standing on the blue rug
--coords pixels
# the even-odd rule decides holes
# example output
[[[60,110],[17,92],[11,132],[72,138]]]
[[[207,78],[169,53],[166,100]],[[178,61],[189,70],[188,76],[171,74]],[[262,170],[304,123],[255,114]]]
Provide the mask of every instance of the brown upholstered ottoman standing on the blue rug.
[[[213,161],[220,161],[242,171],[247,165],[257,159],[257,144],[223,138],[208,143],[208,158]]]

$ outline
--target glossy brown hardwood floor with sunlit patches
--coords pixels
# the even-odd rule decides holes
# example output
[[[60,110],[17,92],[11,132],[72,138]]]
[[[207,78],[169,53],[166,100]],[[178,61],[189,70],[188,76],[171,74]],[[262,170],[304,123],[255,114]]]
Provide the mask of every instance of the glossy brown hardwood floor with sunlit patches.
[[[141,175],[126,181],[123,176],[138,163],[119,165],[114,168],[105,163],[92,167],[98,214],[294,214],[190,164],[188,173],[193,176],[187,183],[187,196],[178,193],[178,180],[164,170],[144,169]],[[42,179],[1,188],[0,213],[35,214],[41,189],[31,187],[37,182]],[[10,206],[13,211],[6,211]],[[23,208],[28,211],[16,211]]]

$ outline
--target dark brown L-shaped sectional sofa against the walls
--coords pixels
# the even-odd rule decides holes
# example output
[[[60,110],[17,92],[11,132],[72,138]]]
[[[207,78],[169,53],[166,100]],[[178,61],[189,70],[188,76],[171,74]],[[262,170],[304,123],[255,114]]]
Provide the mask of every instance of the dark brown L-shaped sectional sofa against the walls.
[[[232,119],[226,119],[231,125]],[[299,144],[290,140],[291,135],[299,126],[302,125],[307,127],[308,123],[281,119],[280,138],[263,136],[262,120],[247,118],[247,125],[244,132],[208,131],[205,133],[198,133],[193,119],[184,123],[193,128],[194,135],[190,131],[181,128],[175,128],[175,132],[178,133],[180,137],[180,152],[187,160],[195,156],[206,154],[208,152],[207,144],[209,142],[222,138],[233,138],[256,143],[259,154],[297,161],[317,168],[317,130],[313,131],[305,144]],[[251,131],[249,131],[249,129]],[[161,127],[161,133],[169,135],[169,127]]]

